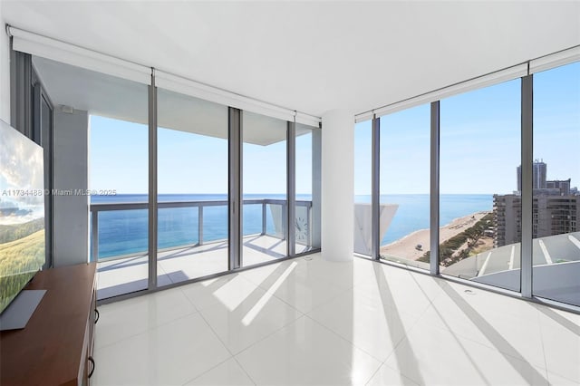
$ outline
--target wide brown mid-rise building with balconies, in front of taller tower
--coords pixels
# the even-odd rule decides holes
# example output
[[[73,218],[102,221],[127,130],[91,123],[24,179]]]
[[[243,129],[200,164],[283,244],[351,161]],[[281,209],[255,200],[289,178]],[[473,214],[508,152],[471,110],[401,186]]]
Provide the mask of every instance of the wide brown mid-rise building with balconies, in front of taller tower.
[[[521,196],[494,195],[494,246],[521,241]],[[532,236],[555,236],[580,230],[580,196],[534,196]]]

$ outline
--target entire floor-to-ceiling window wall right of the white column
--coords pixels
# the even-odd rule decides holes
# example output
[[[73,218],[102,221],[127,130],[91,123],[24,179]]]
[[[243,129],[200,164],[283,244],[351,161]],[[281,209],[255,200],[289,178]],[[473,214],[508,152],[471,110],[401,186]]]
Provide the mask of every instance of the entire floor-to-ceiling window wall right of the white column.
[[[545,63],[544,58],[532,68],[544,69]],[[525,71],[524,66],[507,70],[514,76]],[[496,76],[506,79],[507,72],[482,83]],[[580,63],[536,72],[525,81],[516,78],[475,90],[467,85],[471,91],[431,106],[383,115],[378,149],[372,145],[372,121],[357,124],[355,201],[370,206],[372,173],[379,171],[378,217],[385,207],[394,212],[386,230],[379,225],[382,259],[431,272],[439,265],[442,275],[516,292],[526,284],[534,296],[577,306]],[[532,97],[533,103],[527,103]],[[533,138],[527,134],[531,128]],[[373,170],[373,157],[380,159],[378,170]],[[529,215],[522,207],[527,194]],[[438,207],[430,207],[433,202]],[[433,213],[439,215],[439,229],[430,228]],[[527,216],[529,224],[523,223]],[[359,223],[360,229],[371,226],[372,215]],[[434,235],[439,237],[437,254],[430,251]],[[372,255],[371,243],[368,236],[365,255]],[[524,246],[532,247],[531,259],[523,259]]]

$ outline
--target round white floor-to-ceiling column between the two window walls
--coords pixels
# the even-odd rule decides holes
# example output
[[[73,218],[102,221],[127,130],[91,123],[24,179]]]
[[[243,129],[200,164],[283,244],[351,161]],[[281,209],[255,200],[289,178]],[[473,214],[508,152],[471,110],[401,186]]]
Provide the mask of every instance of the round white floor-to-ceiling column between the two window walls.
[[[322,132],[322,256],[353,259],[354,115],[333,110],[323,115]]]

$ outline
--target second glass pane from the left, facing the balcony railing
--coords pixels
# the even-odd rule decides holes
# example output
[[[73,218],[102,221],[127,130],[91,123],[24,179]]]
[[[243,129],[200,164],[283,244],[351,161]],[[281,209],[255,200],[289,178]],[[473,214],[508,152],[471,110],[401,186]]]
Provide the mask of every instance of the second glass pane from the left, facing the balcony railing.
[[[158,285],[227,271],[227,107],[158,89]]]

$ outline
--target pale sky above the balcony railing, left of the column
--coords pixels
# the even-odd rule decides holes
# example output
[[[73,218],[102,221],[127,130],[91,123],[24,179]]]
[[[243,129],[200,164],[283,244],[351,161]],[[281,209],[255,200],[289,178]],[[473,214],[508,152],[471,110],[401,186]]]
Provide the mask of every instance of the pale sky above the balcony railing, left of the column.
[[[146,125],[91,117],[93,189],[119,194],[148,191]],[[285,194],[286,143],[244,144],[244,192]],[[296,139],[296,192],[312,189],[312,135]],[[227,194],[227,140],[179,130],[158,130],[160,194]]]

